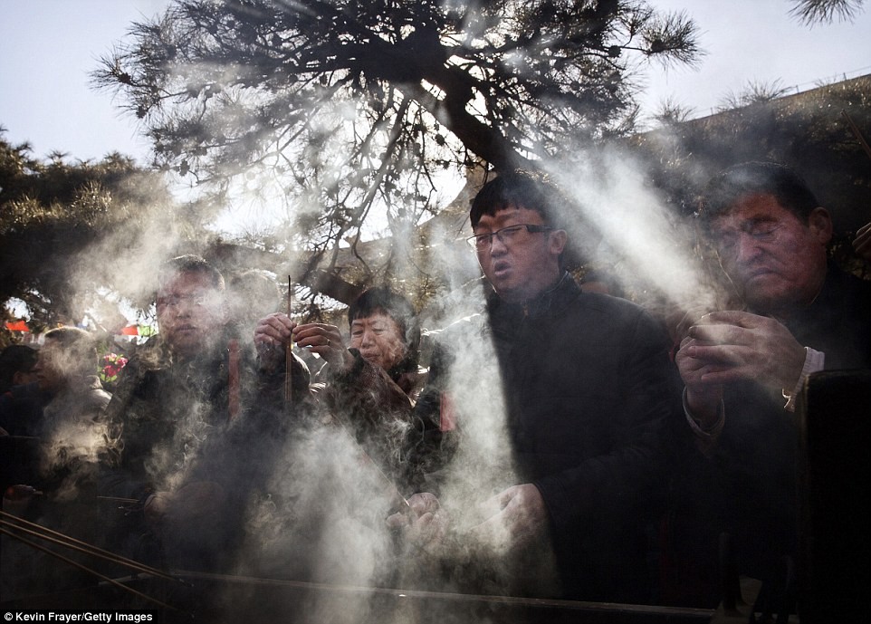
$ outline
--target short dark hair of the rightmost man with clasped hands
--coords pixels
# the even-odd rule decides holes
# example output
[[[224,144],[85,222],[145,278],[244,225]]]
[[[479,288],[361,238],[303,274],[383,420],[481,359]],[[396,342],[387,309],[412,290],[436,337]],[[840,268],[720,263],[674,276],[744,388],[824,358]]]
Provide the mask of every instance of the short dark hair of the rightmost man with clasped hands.
[[[771,195],[807,223],[819,206],[808,183],[792,168],[776,162],[743,162],[714,176],[704,188],[698,216],[707,225],[752,195]]]

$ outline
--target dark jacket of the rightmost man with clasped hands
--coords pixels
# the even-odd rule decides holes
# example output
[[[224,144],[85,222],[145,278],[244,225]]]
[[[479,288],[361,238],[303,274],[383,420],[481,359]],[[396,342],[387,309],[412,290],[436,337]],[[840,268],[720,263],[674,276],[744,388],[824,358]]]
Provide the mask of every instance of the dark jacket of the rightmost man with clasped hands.
[[[871,369],[871,282],[830,266],[814,302],[781,322],[799,344],[826,354],[826,370]],[[680,423],[672,445],[680,453],[669,514],[671,601],[716,606],[723,533],[736,570],[770,588],[786,578],[786,557],[797,562],[799,431],[785,403],[780,389],[751,380],[727,386],[723,432],[709,456],[694,447],[689,427]]]

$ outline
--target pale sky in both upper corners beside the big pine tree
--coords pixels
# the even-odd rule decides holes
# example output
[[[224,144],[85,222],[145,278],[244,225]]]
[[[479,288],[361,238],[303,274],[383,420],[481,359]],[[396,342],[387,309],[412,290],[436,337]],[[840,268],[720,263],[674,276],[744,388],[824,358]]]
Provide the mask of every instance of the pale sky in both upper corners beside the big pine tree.
[[[137,123],[89,72],[134,21],[160,13],[168,0],[0,0],[0,126],[5,139],[28,141],[34,156],[52,151],[99,159],[112,151],[148,161]],[[669,97],[710,114],[748,82],[780,81],[804,91],[818,82],[871,73],[871,6],[850,23],[809,27],[790,18],[788,0],[654,0],[685,11],[707,54],[697,69],[652,65],[644,110]]]

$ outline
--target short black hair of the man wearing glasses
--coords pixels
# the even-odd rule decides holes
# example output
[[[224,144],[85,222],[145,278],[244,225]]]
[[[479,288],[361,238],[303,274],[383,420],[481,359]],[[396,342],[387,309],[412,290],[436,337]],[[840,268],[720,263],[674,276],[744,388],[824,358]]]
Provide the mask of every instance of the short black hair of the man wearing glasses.
[[[514,169],[487,182],[472,201],[473,229],[484,215],[493,216],[510,206],[534,210],[547,226],[561,228],[568,198],[547,174]]]

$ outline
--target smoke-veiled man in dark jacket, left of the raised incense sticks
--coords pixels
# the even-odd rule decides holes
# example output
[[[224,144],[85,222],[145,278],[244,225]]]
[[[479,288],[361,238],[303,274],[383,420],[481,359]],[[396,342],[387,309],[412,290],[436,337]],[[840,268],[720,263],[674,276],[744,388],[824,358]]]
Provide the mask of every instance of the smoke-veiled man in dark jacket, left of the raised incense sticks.
[[[134,548],[156,551],[143,536],[157,536],[176,562],[214,569],[287,428],[283,371],[262,373],[250,340],[228,331],[224,277],[203,258],[163,264],[155,303],[158,339],[129,360],[107,408],[120,456],[103,487],[139,501],[118,528],[124,548],[153,556]],[[293,373],[303,396],[308,370],[296,358]]]

